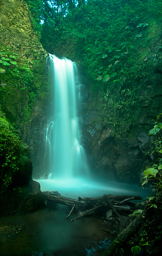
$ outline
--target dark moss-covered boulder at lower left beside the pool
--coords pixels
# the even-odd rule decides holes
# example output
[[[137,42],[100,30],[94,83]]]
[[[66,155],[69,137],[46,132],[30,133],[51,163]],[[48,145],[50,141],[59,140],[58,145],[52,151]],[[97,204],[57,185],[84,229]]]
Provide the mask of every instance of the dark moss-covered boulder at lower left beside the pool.
[[[0,114],[0,212],[24,214],[36,210],[43,199],[40,184],[32,180],[29,147]]]

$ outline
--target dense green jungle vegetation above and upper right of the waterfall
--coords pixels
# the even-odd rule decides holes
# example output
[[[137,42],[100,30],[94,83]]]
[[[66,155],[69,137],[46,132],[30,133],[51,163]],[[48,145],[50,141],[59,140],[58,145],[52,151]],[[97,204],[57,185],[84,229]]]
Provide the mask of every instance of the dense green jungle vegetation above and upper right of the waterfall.
[[[32,24],[44,49],[76,61],[100,95],[102,107],[112,108],[110,124],[119,116],[130,122],[139,105],[140,82],[155,80],[161,66],[161,0],[27,0]],[[156,38],[155,38],[156,35]],[[157,52],[155,52],[155,43]],[[109,115],[107,113],[106,115]]]

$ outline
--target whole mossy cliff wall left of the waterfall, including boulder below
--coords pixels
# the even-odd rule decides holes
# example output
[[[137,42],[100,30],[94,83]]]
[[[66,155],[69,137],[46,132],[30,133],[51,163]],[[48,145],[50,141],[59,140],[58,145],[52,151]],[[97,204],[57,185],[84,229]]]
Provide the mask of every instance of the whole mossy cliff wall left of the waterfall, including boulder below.
[[[0,13],[0,207],[1,215],[24,214],[43,200],[40,184],[32,180],[30,150],[24,142],[34,150],[39,144],[45,104],[40,80],[35,78],[41,79],[47,52],[33,31],[25,1],[1,1]]]

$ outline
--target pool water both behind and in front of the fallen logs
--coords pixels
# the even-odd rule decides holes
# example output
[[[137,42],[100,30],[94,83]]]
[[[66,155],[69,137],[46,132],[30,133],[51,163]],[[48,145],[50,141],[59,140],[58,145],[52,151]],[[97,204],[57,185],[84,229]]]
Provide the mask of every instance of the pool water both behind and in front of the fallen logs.
[[[141,195],[143,199],[148,196],[145,189],[133,184],[103,181],[80,181],[78,184],[76,180],[73,181],[75,187],[69,181],[65,186],[63,181],[63,184],[58,181],[53,184],[51,180],[40,180],[41,190],[57,190],[62,196],[72,198],[96,197],[105,193]],[[114,231],[115,228],[110,222],[105,227],[104,220],[93,215],[71,222],[76,213],[72,213],[65,220],[67,215],[66,206],[58,205],[56,209],[46,207],[22,216],[2,217],[0,226],[23,223],[26,229],[16,236],[11,235],[8,240],[1,243],[0,256],[23,256],[33,250],[45,252],[50,256],[98,256],[101,253],[98,249],[109,246],[111,239],[115,238],[115,235],[101,230]]]

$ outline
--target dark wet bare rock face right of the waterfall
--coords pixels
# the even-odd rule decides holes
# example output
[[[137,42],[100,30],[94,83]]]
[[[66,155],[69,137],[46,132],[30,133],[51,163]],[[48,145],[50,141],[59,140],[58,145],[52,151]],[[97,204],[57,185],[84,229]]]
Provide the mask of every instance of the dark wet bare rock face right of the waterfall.
[[[139,106],[134,109],[136,113],[132,111],[134,120],[125,123],[119,135],[114,133],[112,124],[109,124],[109,118],[114,115],[113,109],[103,109],[102,98],[98,95],[95,99],[87,89],[88,82],[84,81],[82,91],[83,144],[93,171],[96,170],[100,176],[110,180],[139,183],[145,167],[156,158],[156,155],[151,156],[146,152],[156,139],[149,137],[148,131],[152,128],[152,119],[155,119],[160,109],[161,99],[159,87],[156,84],[149,89],[148,95],[145,87],[148,87],[150,83],[151,81],[147,78],[142,82],[139,98],[143,98]],[[156,102],[153,101],[155,95],[157,95]],[[124,120],[122,117],[118,118],[119,125],[122,125]]]

